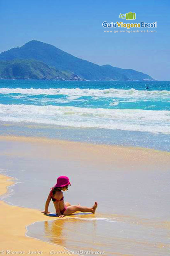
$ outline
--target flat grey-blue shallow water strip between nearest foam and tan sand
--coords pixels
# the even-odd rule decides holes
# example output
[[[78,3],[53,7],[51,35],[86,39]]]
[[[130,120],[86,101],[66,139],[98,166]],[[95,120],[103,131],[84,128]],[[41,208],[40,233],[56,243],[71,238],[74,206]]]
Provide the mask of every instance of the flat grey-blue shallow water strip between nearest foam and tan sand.
[[[34,120],[35,121],[35,120]],[[170,136],[163,133],[71,127],[35,122],[0,121],[0,136],[38,137],[122,147],[151,148],[170,151]]]

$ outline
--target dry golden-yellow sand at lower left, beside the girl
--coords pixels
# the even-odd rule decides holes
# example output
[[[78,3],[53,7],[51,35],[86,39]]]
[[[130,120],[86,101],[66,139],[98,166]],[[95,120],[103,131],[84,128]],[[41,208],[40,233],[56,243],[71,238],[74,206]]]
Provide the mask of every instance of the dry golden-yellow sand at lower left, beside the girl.
[[[0,195],[7,192],[7,187],[15,182],[11,177],[0,174]],[[43,242],[26,236],[26,227],[37,221],[51,220],[39,210],[8,205],[0,200],[1,207],[1,252],[4,254],[52,254],[50,251],[61,251],[62,255],[68,255],[68,250],[62,246]],[[65,217],[69,218],[69,217]],[[7,252],[8,251],[8,252]],[[66,252],[67,251],[67,252]],[[25,253],[24,253],[25,252]],[[34,253],[31,253],[34,252]],[[1,253],[3,254],[3,252]],[[75,254],[77,255],[77,254]]]

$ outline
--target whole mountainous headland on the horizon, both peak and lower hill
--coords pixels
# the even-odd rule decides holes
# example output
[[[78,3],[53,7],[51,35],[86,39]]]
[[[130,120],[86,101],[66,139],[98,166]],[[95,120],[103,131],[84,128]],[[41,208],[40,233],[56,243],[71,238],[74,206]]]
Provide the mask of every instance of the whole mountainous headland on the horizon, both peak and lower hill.
[[[0,79],[154,80],[133,69],[99,66],[36,40],[0,54]]]

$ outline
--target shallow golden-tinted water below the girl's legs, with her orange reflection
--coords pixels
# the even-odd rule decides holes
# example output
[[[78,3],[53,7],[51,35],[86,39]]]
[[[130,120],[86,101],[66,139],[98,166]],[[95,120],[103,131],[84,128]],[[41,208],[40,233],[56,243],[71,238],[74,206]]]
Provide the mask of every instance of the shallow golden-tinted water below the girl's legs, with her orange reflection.
[[[41,222],[35,224],[29,230],[31,236],[35,228],[39,232],[42,229]],[[45,221],[42,232],[44,241],[71,251],[104,251],[108,256],[165,256],[170,250],[169,222],[132,216],[75,214],[67,219]]]

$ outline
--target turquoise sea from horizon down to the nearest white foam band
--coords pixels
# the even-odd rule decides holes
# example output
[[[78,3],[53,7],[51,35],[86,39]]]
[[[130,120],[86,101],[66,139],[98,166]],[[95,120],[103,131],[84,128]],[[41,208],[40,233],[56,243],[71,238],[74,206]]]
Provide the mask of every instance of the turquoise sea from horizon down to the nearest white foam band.
[[[169,81],[1,80],[0,100],[16,105],[169,110],[169,90]]]

